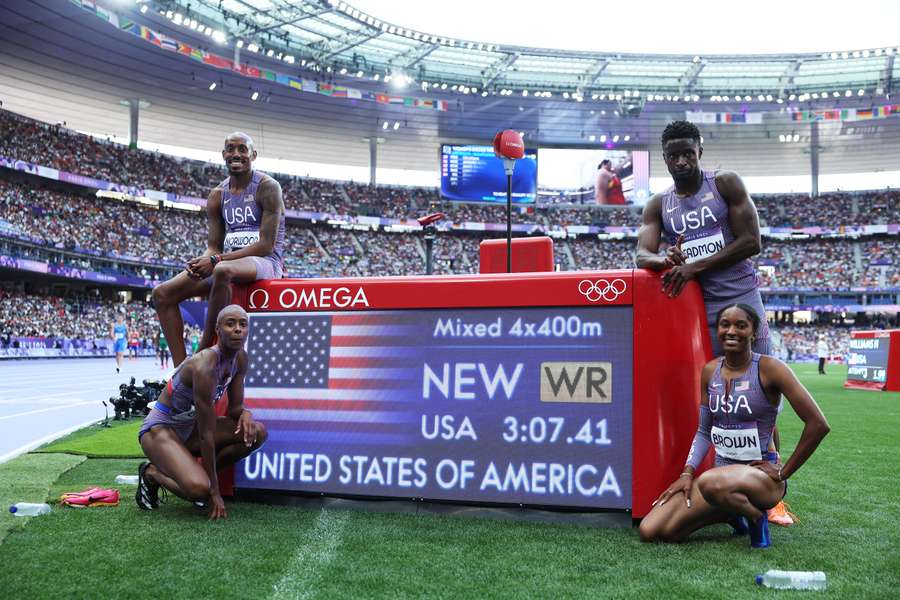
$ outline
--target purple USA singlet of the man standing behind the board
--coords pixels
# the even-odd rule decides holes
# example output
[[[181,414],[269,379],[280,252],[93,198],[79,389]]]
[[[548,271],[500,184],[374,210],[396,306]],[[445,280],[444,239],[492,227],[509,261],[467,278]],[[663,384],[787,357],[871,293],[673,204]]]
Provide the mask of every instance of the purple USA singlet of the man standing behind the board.
[[[688,263],[712,256],[734,241],[728,223],[728,204],[716,188],[716,174],[713,171],[703,172],[703,184],[693,196],[678,196],[675,186],[663,192],[660,211],[663,230],[670,245],[675,245],[678,236],[684,234],[681,250]],[[697,280],[707,301],[737,298],[759,286],[750,259],[703,273]]]

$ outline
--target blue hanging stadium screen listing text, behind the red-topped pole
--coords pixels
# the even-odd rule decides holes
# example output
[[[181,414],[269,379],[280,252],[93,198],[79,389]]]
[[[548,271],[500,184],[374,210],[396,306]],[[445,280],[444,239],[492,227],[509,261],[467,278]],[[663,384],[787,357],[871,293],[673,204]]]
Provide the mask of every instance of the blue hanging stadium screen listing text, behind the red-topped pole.
[[[514,204],[534,202],[537,195],[537,151],[525,149],[515,162],[512,178]],[[506,203],[503,160],[491,146],[441,146],[441,196],[448,200]]]

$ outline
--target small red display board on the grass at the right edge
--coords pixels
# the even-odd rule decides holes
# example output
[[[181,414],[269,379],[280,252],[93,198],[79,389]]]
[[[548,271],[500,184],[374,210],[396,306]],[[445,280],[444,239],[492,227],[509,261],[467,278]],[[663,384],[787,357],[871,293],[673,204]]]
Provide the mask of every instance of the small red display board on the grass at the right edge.
[[[900,329],[850,334],[844,387],[900,391]]]

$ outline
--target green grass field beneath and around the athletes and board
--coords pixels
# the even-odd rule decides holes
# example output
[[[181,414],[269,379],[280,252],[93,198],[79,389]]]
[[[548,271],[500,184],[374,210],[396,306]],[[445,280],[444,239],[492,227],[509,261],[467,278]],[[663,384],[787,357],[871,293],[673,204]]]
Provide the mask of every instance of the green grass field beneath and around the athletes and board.
[[[240,502],[228,503],[226,522],[208,523],[203,512],[175,498],[159,511],[141,512],[134,488],[123,487],[126,497],[114,508],[56,508],[14,527],[14,517],[0,517],[0,532],[12,527],[0,543],[0,590],[11,599],[808,594],[753,583],[757,573],[779,568],[825,571],[824,595],[834,598],[900,598],[900,394],[846,391],[845,369],[838,366],[824,377],[814,365],[795,369],[832,433],[791,479],[788,500],[800,524],[775,528],[768,550],[752,551],[724,525],[684,544],[647,545],[627,529]],[[779,419],[783,454],[800,426],[786,409]],[[104,456],[92,435],[83,432],[54,447]],[[49,494],[37,482],[32,489],[41,497],[30,500],[111,486],[116,474],[134,473],[139,462],[22,456],[0,468],[0,499],[22,491],[19,476],[34,471],[27,461],[35,456],[60,458],[55,481],[43,465]]]

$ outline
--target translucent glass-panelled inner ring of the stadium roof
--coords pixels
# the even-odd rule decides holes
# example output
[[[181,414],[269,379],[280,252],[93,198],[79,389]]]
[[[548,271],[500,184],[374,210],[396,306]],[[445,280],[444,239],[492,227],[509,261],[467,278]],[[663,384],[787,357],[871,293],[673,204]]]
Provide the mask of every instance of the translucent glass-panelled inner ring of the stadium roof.
[[[416,31],[341,0],[147,0],[176,25],[224,34],[314,73],[397,88],[480,95],[683,100],[807,100],[889,95],[900,47],[755,55],[668,55],[501,45]]]

